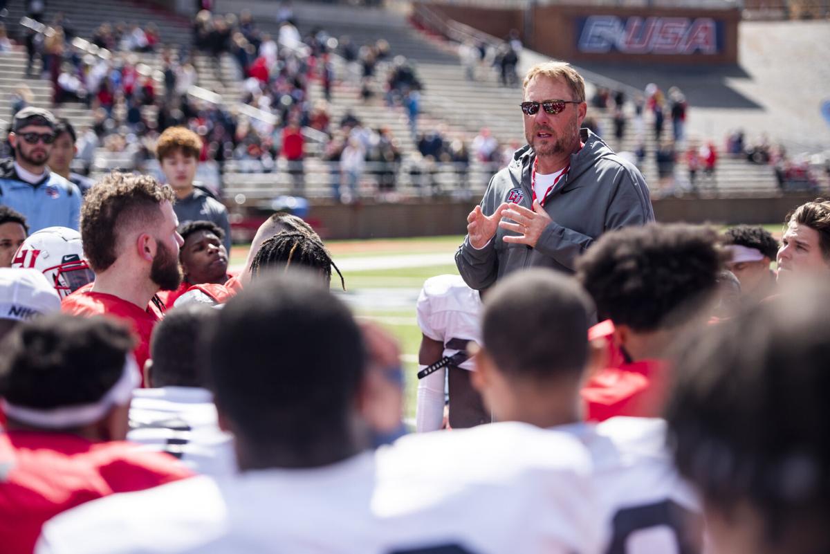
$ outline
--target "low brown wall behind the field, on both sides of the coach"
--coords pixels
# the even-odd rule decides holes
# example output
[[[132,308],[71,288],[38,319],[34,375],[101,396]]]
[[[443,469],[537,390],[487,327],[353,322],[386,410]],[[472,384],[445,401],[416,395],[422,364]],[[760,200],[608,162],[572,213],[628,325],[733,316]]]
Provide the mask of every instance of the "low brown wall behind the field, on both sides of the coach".
[[[736,225],[784,221],[794,207],[814,195],[770,198],[655,199],[657,221]],[[463,235],[472,201],[424,201],[401,204],[312,205],[308,220],[327,239],[369,239],[400,236]]]

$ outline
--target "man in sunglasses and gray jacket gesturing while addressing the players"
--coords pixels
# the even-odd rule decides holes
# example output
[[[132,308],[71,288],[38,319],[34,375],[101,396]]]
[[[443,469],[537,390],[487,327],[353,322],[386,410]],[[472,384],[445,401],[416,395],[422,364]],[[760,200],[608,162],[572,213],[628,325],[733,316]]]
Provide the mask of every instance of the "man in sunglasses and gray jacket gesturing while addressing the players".
[[[524,98],[527,144],[492,177],[456,254],[472,289],[531,266],[572,274],[603,232],[654,221],[642,173],[580,129],[588,105],[579,73],[562,62],[534,66]]]

